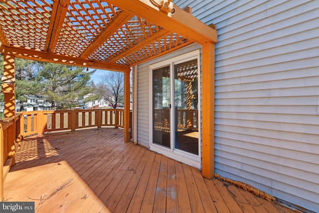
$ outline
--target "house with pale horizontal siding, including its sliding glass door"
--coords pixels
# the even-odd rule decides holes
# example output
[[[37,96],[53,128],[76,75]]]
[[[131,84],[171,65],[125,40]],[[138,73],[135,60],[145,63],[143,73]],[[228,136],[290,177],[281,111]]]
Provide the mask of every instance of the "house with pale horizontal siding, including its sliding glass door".
[[[319,1],[173,2],[218,31],[215,172],[318,212]],[[134,140],[197,168],[201,51],[186,46],[133,74]]]

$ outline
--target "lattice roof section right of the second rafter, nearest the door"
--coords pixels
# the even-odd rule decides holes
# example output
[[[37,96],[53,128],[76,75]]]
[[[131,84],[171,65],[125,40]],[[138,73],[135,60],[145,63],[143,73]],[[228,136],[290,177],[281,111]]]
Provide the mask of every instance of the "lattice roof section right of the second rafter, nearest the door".
[[[163,35],[159,38],[149,40],[147,44],[135,49],[140,43],[150,39],[151,36],[161,34],[161,32]],[[132,65],[186,42],[189,40],[181,35],[170,33],[158,25],[134,16],[89,58],[121,65]]]

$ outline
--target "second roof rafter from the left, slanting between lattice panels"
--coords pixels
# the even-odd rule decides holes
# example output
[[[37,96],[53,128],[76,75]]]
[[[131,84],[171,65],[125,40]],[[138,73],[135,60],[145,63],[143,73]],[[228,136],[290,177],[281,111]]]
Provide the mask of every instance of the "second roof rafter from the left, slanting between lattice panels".
[[[89,57],[97,48],[99,48],[111,35],[114,34],[123,24],[125,24],[133,14],[129,11],[122,11],[113,20],[110,25],[105,27],[104,31],[91,43],[90,46],[82,53],[81,58],[86,59]]]

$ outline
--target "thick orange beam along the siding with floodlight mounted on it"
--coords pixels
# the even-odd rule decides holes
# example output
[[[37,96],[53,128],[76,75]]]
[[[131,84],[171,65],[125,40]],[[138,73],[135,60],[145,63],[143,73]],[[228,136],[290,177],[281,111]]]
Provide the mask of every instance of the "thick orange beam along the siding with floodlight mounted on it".
[[[192,16],[187,11],[173,5],[174,13],[165,13],[149,0],[108,0],[108,3],[145,18],[169,31],[181,34],[199,44],[207,41],[217,43],[217,31]],[[170,17],[171,16],[171,17]]]

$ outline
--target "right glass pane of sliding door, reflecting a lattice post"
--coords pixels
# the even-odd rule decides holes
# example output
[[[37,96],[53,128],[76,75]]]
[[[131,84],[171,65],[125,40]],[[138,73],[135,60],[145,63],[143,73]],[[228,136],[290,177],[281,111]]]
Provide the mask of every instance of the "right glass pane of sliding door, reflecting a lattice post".
[[[198,155],[197,59],[174,65],[174,148]]]

